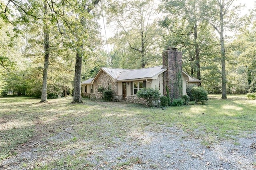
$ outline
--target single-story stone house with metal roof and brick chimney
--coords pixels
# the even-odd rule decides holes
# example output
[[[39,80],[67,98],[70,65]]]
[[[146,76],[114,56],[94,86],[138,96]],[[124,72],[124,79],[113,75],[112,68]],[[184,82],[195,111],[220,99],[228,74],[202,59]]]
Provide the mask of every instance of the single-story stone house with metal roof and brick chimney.
[[[176,48],[163,52],[163,65],[144,69],[117,69],[102,67],[97,75],[82,82],[82,96],[102,99],[100,89],[110,89],[115,100],[140,103],[136,93],[143,88],[159,89],[171,100],[186,95],[186,84],[199,85],[200,80],[182,70],[182,53]]]

